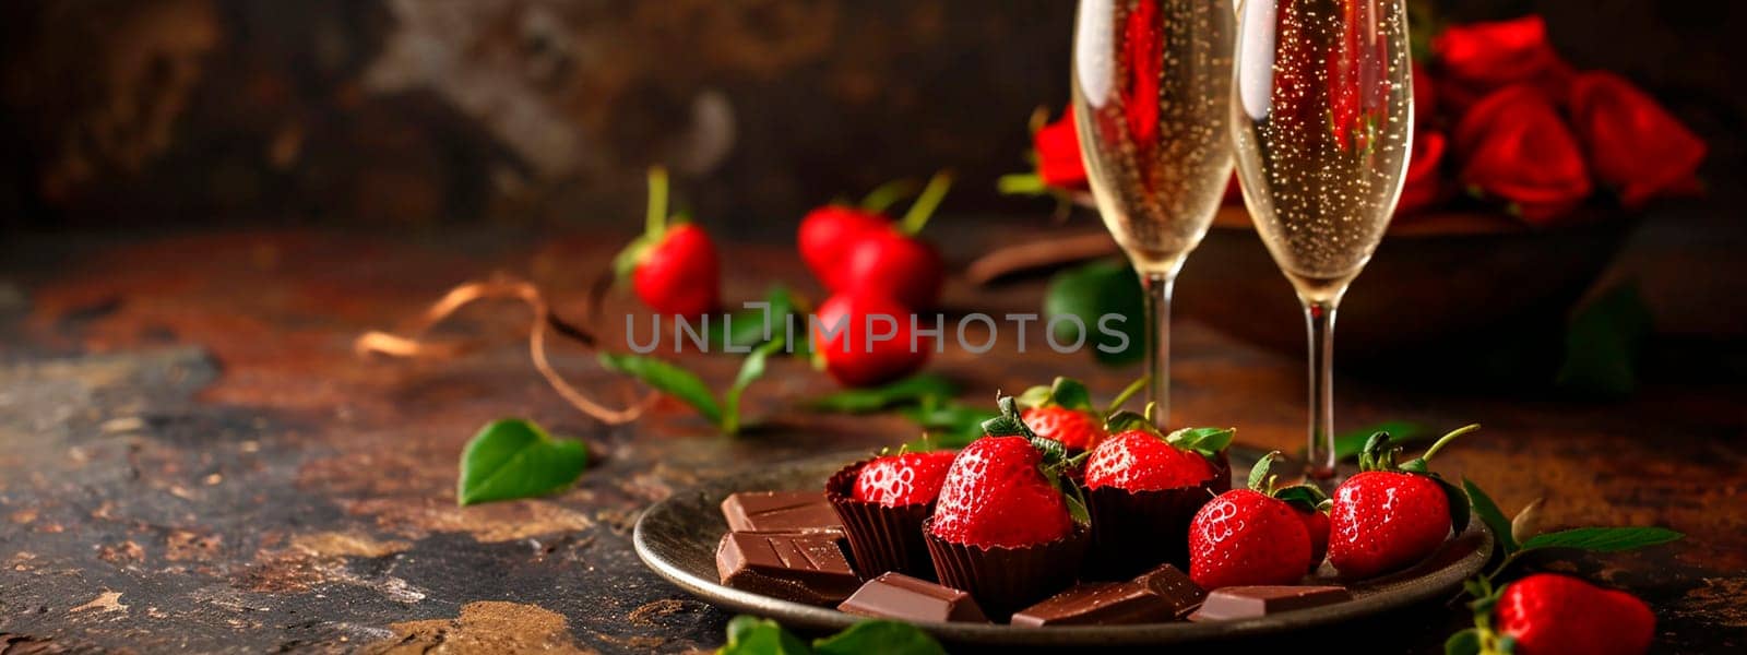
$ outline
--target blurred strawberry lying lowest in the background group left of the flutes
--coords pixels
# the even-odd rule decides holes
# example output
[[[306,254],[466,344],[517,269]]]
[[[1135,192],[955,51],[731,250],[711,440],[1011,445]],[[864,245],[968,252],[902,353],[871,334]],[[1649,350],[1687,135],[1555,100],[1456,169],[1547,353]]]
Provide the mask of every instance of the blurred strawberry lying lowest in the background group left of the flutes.
[[[928,362],[933,349],[933,339],[924,337],[910,348],[912,316],[908,307],[879,295],[833,295],[814,314],[814,362],[823,362],[825,370],[846,386],[908,376]],[[891,339],[874,339],[887,332]]]

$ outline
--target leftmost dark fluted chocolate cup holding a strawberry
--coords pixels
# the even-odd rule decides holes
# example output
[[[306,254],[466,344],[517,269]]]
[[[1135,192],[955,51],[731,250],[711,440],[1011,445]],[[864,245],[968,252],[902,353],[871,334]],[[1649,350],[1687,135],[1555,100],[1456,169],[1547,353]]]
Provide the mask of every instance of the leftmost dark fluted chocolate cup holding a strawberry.
[[[922,519],[935,514],[935,503],[886,507],[854,500],[856,475],[867,461],[839,470],[825,482],[825,500],[844,519],[849,554],[861,580],[886,571],[935,580],[935,564],[922,543]]]

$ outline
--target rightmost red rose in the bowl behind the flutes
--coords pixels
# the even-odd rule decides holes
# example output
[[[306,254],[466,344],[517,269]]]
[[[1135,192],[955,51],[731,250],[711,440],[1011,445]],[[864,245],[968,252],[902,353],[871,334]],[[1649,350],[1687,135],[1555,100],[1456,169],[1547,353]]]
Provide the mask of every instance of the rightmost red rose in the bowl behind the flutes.
[[[1595,178],[1619,190],[1628,208],[1689,185],[1705,161],[1705,141],[1614,73],[1572,79],[1571,122],[1590,150]]]

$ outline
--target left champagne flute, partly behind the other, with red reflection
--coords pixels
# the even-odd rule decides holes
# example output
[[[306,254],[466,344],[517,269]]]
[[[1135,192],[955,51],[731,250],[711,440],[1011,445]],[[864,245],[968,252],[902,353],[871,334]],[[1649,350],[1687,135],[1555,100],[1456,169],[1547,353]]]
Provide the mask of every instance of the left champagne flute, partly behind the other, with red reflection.
[[[1146,286],[1155,421],[1170,417],[1170,286],[1232,176],[1232,0],[1081,0],[1080,154],[1111,236]]]

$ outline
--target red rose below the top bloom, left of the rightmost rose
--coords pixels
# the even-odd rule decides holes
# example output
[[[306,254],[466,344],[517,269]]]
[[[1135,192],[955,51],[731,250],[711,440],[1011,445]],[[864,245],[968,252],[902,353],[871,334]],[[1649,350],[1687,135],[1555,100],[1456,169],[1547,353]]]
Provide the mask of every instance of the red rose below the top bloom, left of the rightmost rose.
[[[1515,84],[1481,98],[1455,126],[1459,178],[1487,197],[1511,203],[1527,222],[1546,225],[1590,196],[1590,171],[1576,136],[1546,93]]]

